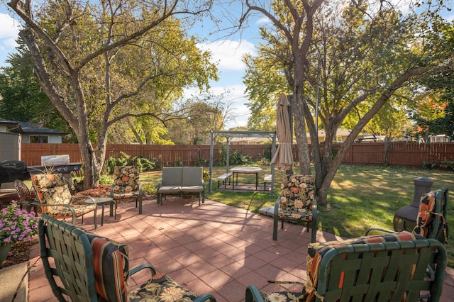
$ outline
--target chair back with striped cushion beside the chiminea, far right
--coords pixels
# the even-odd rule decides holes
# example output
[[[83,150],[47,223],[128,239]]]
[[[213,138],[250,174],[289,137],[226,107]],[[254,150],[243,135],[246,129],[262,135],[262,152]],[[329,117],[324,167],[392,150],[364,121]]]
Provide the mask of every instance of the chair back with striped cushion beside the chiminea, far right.
[[[431,191],[421,196],[416,226],[413,233],[426,238],[448,241],[448,187]]]

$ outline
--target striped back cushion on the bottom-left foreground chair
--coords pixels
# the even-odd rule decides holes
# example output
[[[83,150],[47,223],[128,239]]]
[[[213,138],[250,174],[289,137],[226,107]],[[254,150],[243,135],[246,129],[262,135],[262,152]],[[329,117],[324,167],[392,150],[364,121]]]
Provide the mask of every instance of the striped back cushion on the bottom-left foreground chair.
[[[92,245],[96,293],[106,301],[128,301],[128,245],[87,233]]]

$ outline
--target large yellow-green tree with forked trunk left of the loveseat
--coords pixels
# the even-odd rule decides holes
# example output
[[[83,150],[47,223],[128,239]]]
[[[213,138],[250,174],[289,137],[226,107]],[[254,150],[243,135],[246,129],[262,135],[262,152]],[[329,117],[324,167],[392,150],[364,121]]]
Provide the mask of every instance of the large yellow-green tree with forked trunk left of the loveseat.
[[[23,21],[38,82],[77,136],[84,189],[99,182],[109,128],[143,116],[165,123],[184,86],[216,79],[209,52],[182,30],[184,16],[209,11],[211,1],[8,5]]]

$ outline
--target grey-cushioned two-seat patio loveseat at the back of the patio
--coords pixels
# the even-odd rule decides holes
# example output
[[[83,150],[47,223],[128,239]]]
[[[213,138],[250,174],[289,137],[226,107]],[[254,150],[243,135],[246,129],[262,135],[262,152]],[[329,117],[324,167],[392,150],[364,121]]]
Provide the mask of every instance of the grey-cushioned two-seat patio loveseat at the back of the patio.
[[[157,203],[167,195],[197,194],[200,201],[205,203],[205,181],[203,167],[164,167],[162,179],[157,184]]]

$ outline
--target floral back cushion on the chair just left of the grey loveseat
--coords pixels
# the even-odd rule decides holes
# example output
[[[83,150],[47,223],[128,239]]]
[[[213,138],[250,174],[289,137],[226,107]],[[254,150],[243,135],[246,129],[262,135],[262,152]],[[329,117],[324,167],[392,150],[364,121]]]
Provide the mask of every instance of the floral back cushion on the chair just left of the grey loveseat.
[[[139,196],[139,169],[136,166],[114,168],[114,198]]]

